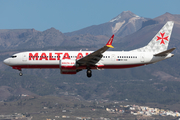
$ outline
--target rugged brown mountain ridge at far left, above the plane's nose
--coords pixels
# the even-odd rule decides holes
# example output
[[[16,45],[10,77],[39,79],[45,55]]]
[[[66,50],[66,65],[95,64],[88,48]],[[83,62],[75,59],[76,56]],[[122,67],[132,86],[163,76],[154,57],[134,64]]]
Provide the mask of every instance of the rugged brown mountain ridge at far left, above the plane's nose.
[[[43,32],[35,29],[0,30],[0,50],[60,46],[65,39],[55,28]]]

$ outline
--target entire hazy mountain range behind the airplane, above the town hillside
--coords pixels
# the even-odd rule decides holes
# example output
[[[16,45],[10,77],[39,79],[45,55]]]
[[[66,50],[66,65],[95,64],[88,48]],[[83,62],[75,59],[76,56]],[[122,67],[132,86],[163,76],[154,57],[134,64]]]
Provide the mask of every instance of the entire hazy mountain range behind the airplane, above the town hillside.
[[[61,75],[59,69],[23,70],[24,76],[19,77],[18,71],[2,62],[13,53],[26,50],[80,50],[82,48],[96,50],[105,45],[112,34],[115,34],[113,42],[115,48],[110,50],[131,50],[148,44],[169,20],[175,22],[169,45],[169,48],[176,47],[173,52],[175,56],[157,64],[132,69],[93,70],[92,78],[88,79],[85,71],[66,76]],[[35,29],[0,30],[0,100],[24,93],[68,94],[80,95],[84,99],[108,100],[123,100],[128,97],[136,102],[140,99],[145,99],[145,102],[157,102],[158,99],[162,100],[162,96],[169,95],[174,98],[174,101],[178,101],[180,98],[179,31],[180,15],[165,13],[150,19],[139,17],[130,11],[122,12],[107,23],[71,33],[62,33],[55,28],[43,32]],[[142,96],[146,95],[143,92],[152,93],[152,96],[143,98]],[[164,100],[167,102],[169,98]]]

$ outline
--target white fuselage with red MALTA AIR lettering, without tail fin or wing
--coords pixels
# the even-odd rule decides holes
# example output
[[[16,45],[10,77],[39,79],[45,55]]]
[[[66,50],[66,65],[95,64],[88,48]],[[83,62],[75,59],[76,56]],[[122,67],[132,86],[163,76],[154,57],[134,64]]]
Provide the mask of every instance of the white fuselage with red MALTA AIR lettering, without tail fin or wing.
[[[29,51],[14,54],[12,57],[4,60],[4,63],[19,70],[21,68],[59,68],[61,60],[76,61],[92,52],[93,51]],[[95,66],[89,67],[91,69],[137,67],[170,58],[172,55],[173,54],[170,53],[167,56],[160,57],[153,56],[152,52],[106,51]],[[86,66],[81,66],[79,69],[86,69]]]

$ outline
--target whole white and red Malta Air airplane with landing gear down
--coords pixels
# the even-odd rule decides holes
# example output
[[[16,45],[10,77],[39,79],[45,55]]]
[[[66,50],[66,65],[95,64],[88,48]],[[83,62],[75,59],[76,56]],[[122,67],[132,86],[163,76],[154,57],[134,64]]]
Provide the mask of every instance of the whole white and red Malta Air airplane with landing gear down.
[[[113,48],[114,35],[107,44],[96,51],[27,51],[20,52],[3,62],[19,70],[30,68],[56,68],[61,74],[76,74],[86,69],[87,77],[92,76],[91,69],[132,68],[165,60],[174,56],[168,49],[174,22],[168,21],[144,47],[130,51],[107,51]]]

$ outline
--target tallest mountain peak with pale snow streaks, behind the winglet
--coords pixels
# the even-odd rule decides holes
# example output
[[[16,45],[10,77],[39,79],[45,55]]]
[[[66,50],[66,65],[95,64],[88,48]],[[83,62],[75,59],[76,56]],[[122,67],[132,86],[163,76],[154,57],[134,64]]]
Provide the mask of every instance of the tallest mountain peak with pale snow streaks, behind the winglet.
[[[115,34],[115,36],[124,37],[139,30],[142,27],[142,22],[146,20],[148,19],[139,17],[131,11],[124,11],[109,22],[100,25],[93,25],[71,33],[65,33],[65,35],[74,36],[80,34],[91,34],[94,36],[110,36]]]

